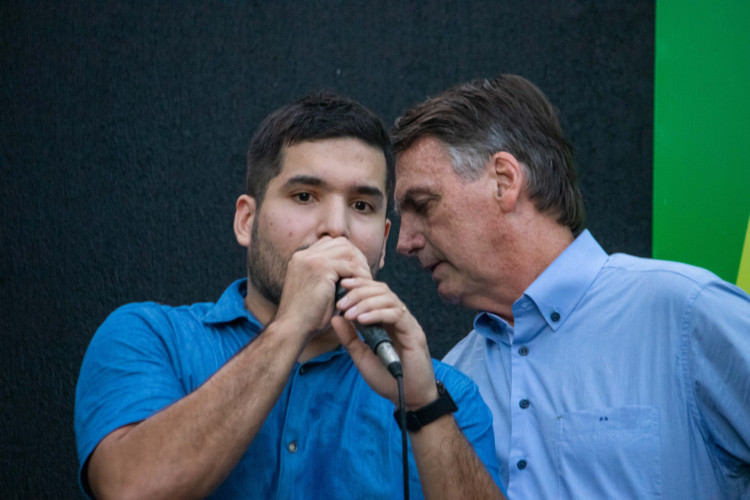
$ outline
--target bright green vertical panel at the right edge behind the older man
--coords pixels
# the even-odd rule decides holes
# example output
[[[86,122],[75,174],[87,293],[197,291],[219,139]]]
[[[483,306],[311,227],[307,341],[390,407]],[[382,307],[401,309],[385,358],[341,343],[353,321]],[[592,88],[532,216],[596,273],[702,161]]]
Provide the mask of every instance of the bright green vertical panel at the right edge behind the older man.
[[[653,255],[734,282],[750,215],[750,2],[657,0]]]

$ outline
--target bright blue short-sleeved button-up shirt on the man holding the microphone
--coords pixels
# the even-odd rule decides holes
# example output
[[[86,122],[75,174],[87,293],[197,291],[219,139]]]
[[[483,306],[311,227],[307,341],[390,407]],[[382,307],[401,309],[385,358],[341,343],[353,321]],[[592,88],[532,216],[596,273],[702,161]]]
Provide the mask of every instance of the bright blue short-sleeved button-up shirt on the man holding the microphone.
[[[243,304],[245,286],[235,282],[216,304],[130,304],[107,318],[88,348],[76,391],[79,472],[110,432],[194,391],[260,334],[262,325]],[[489,409],[468,377],[434,365],[458,405],[459,427],[497,480]],[[341,347],[297,364],[212,498],[398,498],[402,448],[393,411]],[[422,498],[411,453],[409,479],[414,498]]]

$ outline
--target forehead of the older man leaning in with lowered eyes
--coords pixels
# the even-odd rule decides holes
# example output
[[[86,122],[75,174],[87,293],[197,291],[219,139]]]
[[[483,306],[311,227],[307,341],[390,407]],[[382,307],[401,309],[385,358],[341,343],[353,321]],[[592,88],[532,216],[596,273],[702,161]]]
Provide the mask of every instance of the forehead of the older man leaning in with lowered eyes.
[[[445,147],[433,137],[422,137],[396,157],[396,202],[415,191],[439,192],[456,179]]]

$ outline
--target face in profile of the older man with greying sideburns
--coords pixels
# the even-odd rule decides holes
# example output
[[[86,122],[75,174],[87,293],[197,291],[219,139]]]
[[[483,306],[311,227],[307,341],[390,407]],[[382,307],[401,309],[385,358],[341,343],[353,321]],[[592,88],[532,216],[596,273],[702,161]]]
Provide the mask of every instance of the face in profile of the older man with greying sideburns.
[[[486,222],[500,216],[493,186],[487,173],[474,182],[462,181],[445,148],[432,137],[398,155],[398,252],[417,257],[450,303],[472,307],[490,285],[486,264],[497,248],[495,238],[487,237]]]

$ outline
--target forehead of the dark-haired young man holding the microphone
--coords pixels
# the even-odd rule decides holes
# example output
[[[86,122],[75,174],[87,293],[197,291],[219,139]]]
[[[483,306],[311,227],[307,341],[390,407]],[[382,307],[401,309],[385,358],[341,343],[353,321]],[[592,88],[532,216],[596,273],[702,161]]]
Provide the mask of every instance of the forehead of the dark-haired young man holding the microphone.
[[[374,185],[385,190],[385,155],[360,139],[302,141],[286,146],[274,181],[308,175],[328,182]]]

